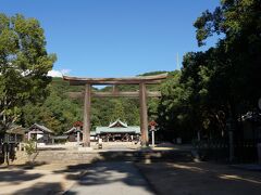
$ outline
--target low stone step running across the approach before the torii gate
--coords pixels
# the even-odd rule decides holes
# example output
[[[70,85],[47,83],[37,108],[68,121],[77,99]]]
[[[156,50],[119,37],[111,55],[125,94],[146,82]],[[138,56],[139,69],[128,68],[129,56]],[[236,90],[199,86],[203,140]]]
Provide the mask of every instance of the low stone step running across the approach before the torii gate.
[[[78,153],[39,151],[35,161],[38,162],[78,162],[85,164],[95,160],[111,161],[192,161],[192,155],[188,151],[171,152],[100,152],[100,153]]]

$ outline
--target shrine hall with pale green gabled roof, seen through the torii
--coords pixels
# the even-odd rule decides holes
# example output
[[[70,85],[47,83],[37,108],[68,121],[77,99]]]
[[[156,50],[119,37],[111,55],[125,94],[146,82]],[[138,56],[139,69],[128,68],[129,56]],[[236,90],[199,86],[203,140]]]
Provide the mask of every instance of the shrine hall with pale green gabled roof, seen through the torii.
[[[102,138],[103,141],[138,141],[140,138],[139,126],[127,126],[126,122],[117,119],[111,122],[108,127],[97,127],[96,136]]]

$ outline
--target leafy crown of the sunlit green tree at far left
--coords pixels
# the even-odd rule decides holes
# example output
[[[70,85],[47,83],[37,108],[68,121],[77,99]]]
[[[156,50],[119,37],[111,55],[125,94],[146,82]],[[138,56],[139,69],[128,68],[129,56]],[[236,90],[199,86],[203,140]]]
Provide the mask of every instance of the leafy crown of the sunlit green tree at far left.
[[[0,14],[0,131],[18,119],[22,105],[48,94],[54,61],[37,20]]]

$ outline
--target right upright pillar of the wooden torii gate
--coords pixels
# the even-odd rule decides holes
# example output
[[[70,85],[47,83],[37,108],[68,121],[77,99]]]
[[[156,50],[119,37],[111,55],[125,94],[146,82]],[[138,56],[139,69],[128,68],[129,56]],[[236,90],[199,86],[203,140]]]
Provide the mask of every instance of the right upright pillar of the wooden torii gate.
[[[147,94],[146,84],[139,83],[139,110],[140,110],[140,131],[141,131],[141,144],[148,145],[148,113],[147,113]]]

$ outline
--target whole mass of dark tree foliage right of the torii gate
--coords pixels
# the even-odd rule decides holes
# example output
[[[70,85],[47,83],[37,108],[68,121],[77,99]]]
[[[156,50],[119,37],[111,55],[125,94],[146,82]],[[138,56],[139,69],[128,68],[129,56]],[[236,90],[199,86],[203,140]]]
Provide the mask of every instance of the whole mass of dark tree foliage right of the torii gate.
[[[199,46],[219,36],[216,46],[184,56],[179,75],[163,86],[159,106],[164,129],[224,136],[225,123],[256,110],[261,96],[261,1],[222,0],[194,26]]]

